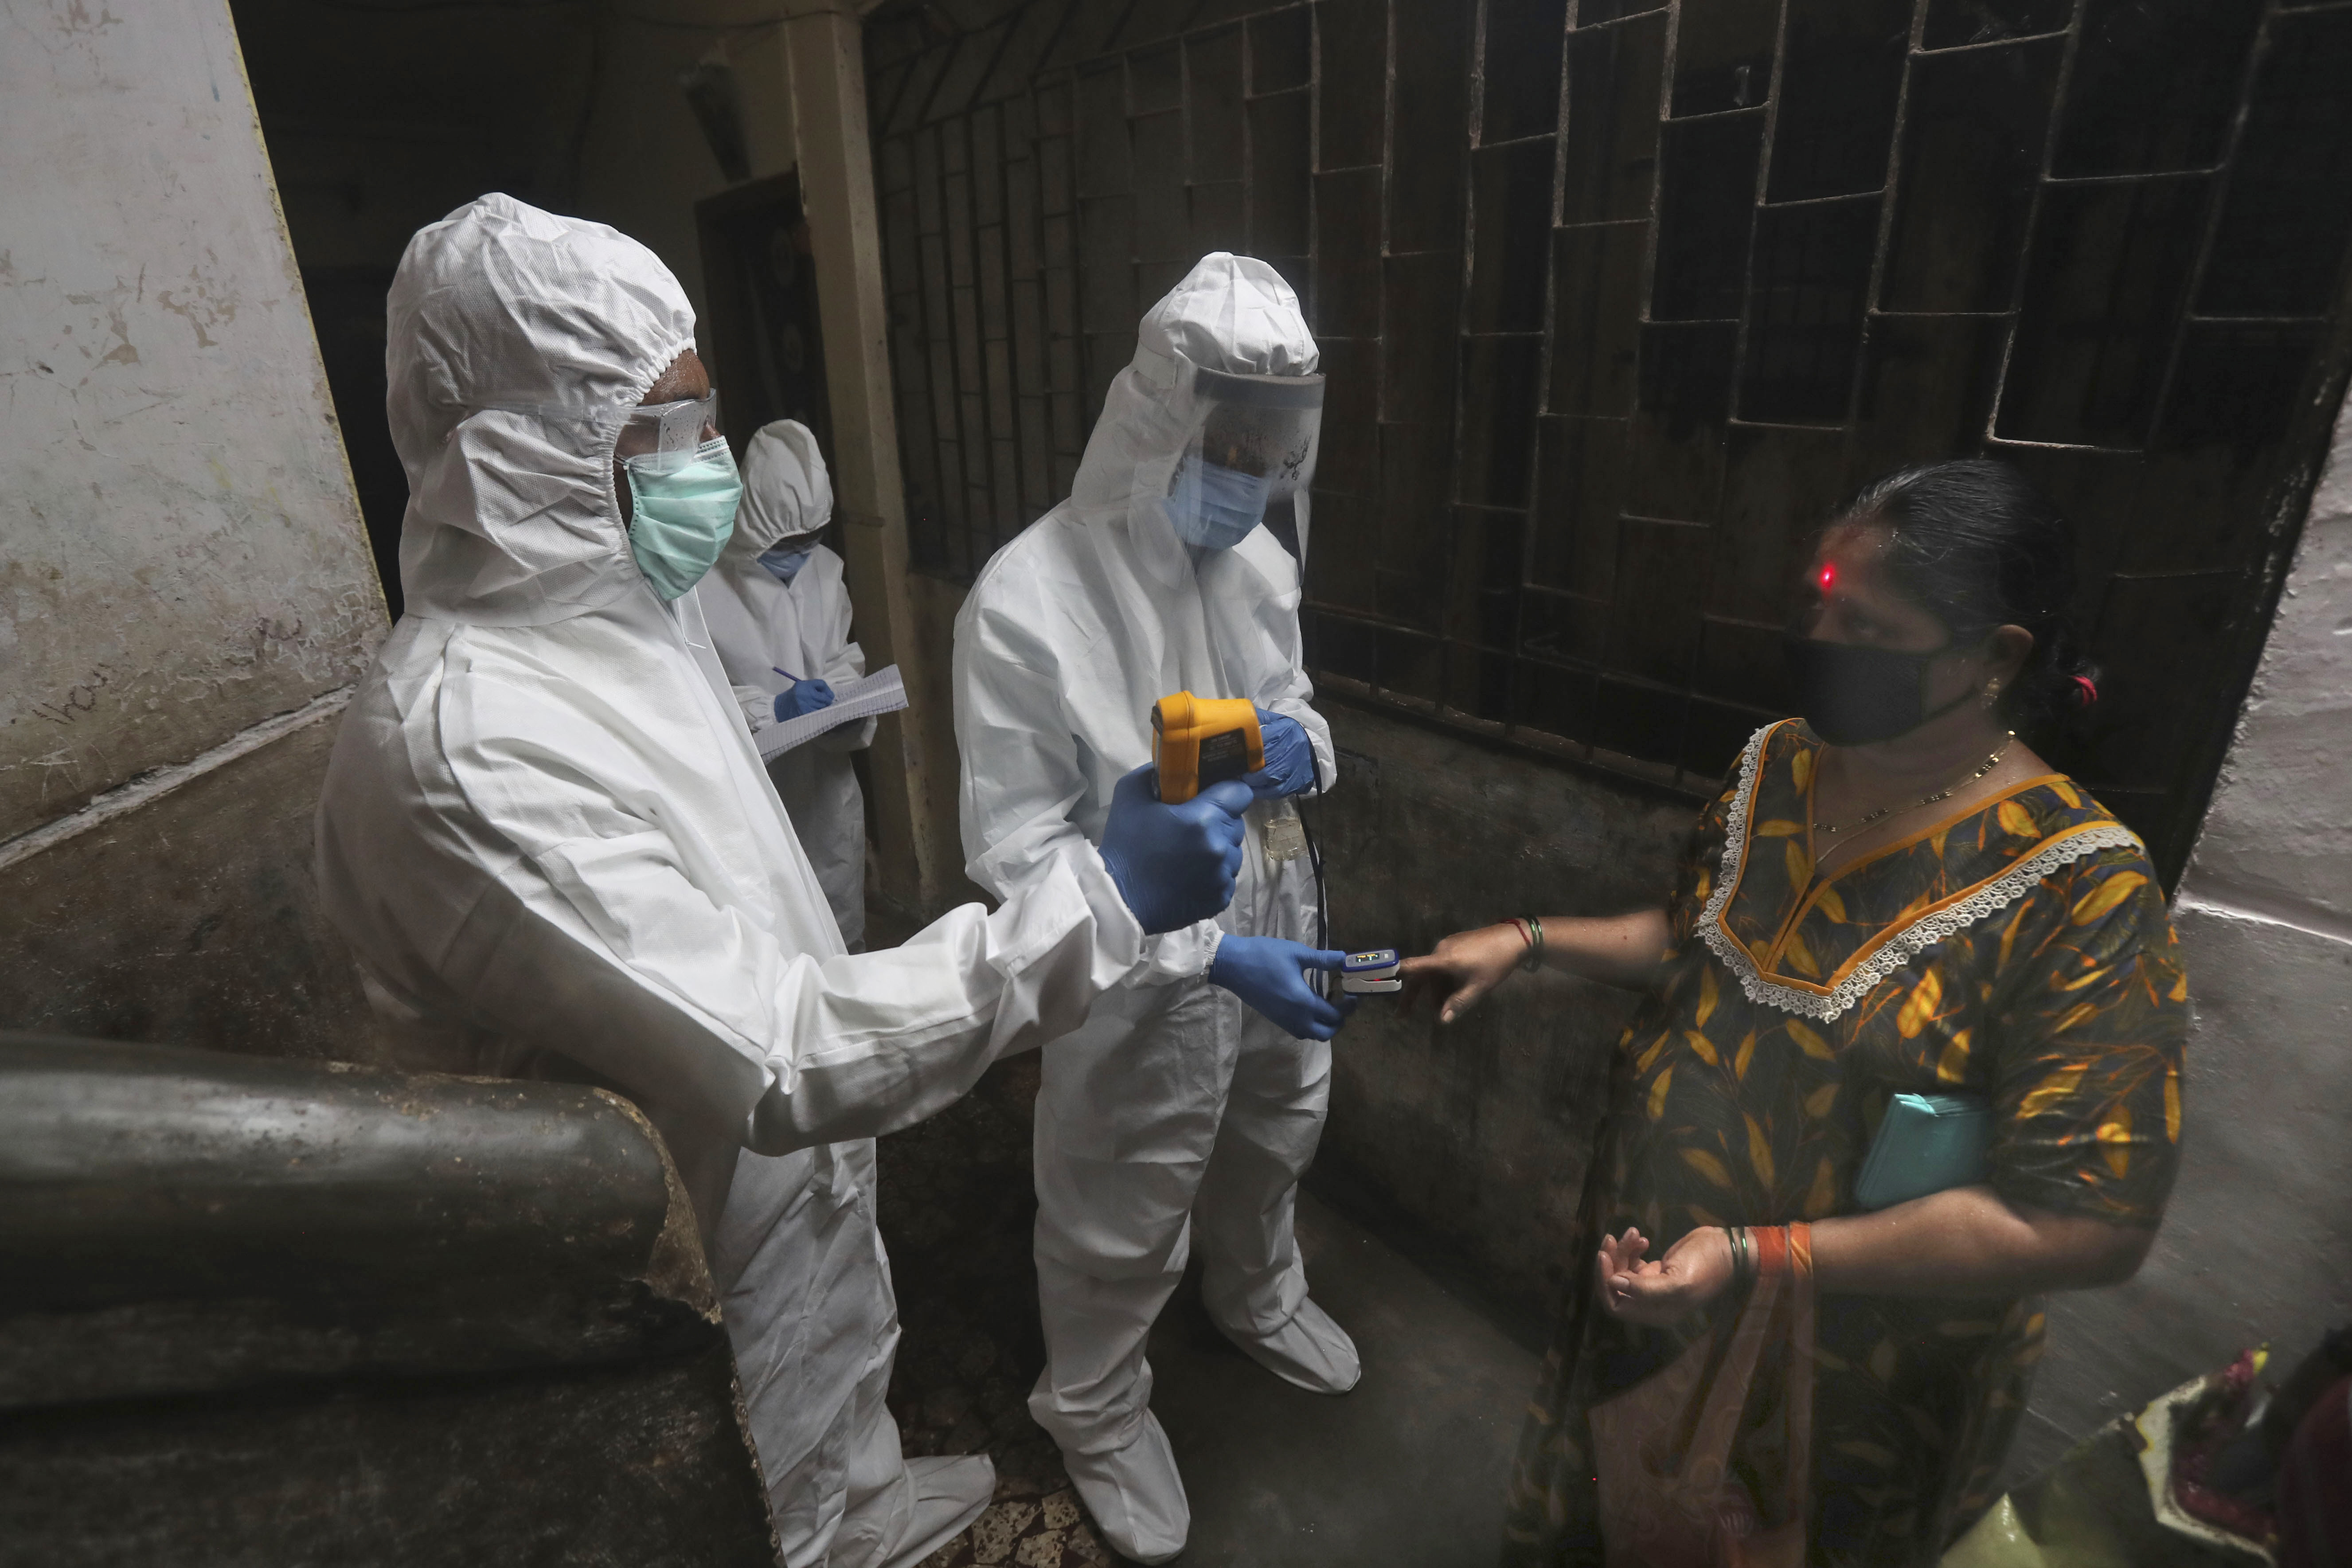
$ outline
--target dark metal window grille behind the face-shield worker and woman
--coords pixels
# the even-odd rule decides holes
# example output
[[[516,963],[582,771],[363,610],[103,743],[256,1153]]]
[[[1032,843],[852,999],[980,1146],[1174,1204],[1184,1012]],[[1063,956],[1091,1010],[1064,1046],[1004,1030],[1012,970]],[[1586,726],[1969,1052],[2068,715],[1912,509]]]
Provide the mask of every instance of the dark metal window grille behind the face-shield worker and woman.
[[[1799,552],[1992,451],[2084,536],[2053,762],[2187,856],[2347,364],[2352,5],[967,0],[868,28],[920,569],[1068,494],[1138,313],[1331,376],[1327,693],[1710,788]]]

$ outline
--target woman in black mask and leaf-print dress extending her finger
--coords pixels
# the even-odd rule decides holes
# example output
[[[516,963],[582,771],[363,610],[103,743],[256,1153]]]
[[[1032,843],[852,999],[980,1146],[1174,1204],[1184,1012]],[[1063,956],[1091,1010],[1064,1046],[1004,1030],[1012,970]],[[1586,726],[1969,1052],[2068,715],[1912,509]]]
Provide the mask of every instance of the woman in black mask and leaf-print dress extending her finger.
[[[1604,1537],[1592,1413],[1738,1314],[1752,1227],[1809,1222],[1818,1302],[1809,1368],[1759,1366],[1731,1472],[1837,1568],[1938,1559],[1992,1502],[2034,1298],[2147,1253],[2187,980],[2138,837],[2011,733],[2096,698],[2070,564],[2002,463],[1872,484],[1823,531],[1788,639],[1806,717],[1748,743],[1665,907],[1517,919],[1406,964],[1444,1020],[1538,961],[1649,992],[1611,1065],[1573,1239],[1595,1274],[1536,1387],[1508,1563],[1637,1561]],[[1990,1173],[1865,1213],[1856,1178],[1898,1093],[1990,1103]],[[1771,1516],[1792,1378],[1811,1380],[1802,1521]]]

